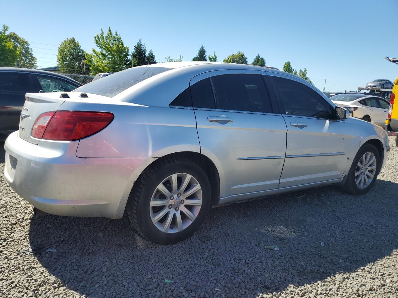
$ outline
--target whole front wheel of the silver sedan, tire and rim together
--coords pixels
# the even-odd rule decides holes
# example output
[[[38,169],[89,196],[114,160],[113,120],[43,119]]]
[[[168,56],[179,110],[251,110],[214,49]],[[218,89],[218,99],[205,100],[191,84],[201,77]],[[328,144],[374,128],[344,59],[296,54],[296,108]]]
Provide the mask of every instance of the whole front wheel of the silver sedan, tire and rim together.
[[[342,186],[346,192],[359,195],[369,192],[375,184],[380,164],[379,153],[375,146],[366,144],[359,149]]]

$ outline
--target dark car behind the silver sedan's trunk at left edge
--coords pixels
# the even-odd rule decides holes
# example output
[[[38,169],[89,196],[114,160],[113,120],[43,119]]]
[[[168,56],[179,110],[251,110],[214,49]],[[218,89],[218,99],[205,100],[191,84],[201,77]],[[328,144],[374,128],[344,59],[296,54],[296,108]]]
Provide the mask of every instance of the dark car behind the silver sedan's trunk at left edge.
[[[0,141],[18,130],[26,93],[67,92],[81,85],[52,72],[0,67]]]

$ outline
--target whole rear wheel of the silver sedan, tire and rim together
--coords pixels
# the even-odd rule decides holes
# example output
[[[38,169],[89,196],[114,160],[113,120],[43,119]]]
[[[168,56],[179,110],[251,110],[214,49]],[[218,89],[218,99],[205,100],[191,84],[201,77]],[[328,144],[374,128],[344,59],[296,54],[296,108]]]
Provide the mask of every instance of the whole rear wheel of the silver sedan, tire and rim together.
[[[188,159],[167,158],[141,174],[126,209],[144,238],[174,244],[199,228],[210,202],[210,182],[204,170]]]

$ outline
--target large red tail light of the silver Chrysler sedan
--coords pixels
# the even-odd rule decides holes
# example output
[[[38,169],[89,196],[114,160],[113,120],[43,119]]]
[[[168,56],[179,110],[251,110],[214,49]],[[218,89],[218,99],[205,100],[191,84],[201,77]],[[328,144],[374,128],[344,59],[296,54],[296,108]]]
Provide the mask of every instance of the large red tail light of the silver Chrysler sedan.
[[[31,135],[46,140],[75,141],[103,130],[113,117],[106,112],[45,112],[36,119]]]

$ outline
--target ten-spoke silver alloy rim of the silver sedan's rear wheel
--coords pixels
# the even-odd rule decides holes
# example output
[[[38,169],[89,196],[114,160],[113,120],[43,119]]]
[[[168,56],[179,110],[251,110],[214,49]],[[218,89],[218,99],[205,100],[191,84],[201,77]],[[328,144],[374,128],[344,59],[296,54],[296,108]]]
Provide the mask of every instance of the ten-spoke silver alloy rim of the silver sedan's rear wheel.
[[[149,213],[156,228],[165,233],[176,233],[195,221],[201,206],[202,189],[198,180],[187,173],[176,173],[156,187]]]

